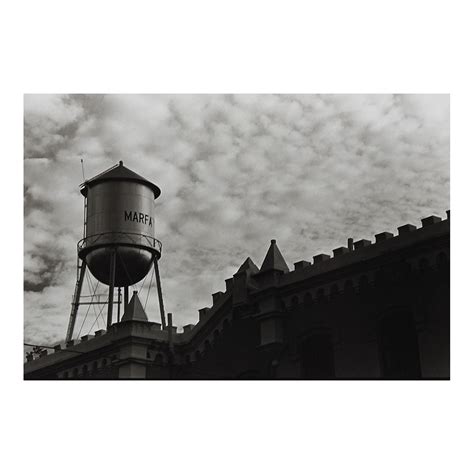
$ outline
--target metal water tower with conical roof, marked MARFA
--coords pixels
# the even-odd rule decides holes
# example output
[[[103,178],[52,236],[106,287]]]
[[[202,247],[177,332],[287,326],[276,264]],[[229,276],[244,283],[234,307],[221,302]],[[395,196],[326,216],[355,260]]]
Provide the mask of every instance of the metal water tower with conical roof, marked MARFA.
[[[118,288],[118,314],[121,289],[125,304],[128,288],[138,283],[154,266],[161,320],[165,326],[163,297],[158,270],[161,242],[155,238],[154,201],[158,186],[126,168],[123,162],[85,181],[84,236],[77,246],[78,271],[66,341],[73,337],[86,268],[108,285],[107,329],[112,324],[114,289]],[[89,304],[93,304],[90,302]]]

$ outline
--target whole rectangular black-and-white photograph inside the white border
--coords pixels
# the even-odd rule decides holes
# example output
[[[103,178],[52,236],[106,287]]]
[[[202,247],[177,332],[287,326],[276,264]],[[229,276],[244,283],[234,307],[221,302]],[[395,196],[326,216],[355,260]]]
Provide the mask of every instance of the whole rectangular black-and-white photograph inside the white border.
[[[449,207],[448,95],[26,95],[25,379],[449,379]]]

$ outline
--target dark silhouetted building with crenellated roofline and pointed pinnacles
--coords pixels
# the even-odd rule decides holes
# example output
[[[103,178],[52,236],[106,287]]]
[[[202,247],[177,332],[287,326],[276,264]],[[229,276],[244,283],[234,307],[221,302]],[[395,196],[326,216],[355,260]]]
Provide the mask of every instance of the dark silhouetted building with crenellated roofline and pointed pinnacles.
[[[25,379],[449,379],[450,220],[300,261],[272,240],[183,332],[134,294],[119,323],[29,356]]]

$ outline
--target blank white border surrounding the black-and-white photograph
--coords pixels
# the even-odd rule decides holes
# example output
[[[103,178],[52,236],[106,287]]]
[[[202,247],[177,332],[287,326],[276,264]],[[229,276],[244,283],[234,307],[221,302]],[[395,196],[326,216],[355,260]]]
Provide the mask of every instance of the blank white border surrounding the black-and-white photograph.
[[[472,471],[474,81],[472,15],[462,5],[45,0],[2,7],[4,472]],[[22,382],[25,92],[451,93],[452,380]]]

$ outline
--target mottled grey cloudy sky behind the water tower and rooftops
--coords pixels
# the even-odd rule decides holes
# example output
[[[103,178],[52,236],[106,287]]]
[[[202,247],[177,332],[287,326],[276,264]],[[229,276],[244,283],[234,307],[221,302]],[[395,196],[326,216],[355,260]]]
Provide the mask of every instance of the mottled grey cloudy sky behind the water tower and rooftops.
[[[445,218],[449,143],[449,95],[25,95],[25,342],[66,334],[81,159],[86,179],[123,160],[161,188],[160,274],[179,327],[247,257],[260,266],[271,239],[292,269],[349,237]],[[159,322],[150,279],[137,290]],[[82,306],[75,336],[105,312]]]

